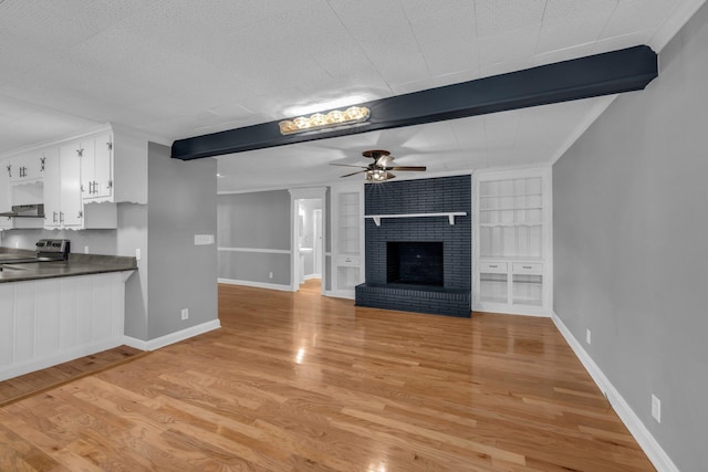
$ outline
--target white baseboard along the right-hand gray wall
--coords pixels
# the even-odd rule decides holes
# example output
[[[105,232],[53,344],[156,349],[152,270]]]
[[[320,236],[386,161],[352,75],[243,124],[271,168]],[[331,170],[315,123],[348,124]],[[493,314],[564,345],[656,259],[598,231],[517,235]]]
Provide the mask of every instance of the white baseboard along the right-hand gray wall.
[[[622,395],[620,395],[620,391],[612,385],[610,379],[603,374],[600,366],[595,364],[593,358],[590,357],[590,354],[587,354],[580,342],[575,339],[571,331],[565,326],[558,314],[553,313],[551,318],[568,344],[571,346],[571,349],[573,349],[580,361],[585,366],[585,369],[587,369],[587,373],[590,373],[590,376],[593,378],[597,387],[600,387],[600,389],[605,394],[610,405],[617,412],[617,416],[624,426],[627,427],[634,439],[637,440],[639,447],[644,450],[656,470],[658,472],[679,472],[678,468],[674,464],[666,451],[664,451],[662,445],[644,426],[639,417],[637,417],[632,410],[629,403],[627,403]]]

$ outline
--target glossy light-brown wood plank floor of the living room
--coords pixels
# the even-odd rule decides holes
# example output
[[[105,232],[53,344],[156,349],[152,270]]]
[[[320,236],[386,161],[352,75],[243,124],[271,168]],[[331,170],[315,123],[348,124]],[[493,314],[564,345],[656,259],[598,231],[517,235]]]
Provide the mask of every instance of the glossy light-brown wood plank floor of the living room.
[[[0,408],[0,470],[654,470],[550,319],[230,285],[219,317]]]

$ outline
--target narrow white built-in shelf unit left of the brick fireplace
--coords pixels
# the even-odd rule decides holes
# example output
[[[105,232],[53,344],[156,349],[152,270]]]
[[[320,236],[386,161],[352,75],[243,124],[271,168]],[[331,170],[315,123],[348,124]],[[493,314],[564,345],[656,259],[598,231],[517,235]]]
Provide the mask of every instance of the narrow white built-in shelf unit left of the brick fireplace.
[[[364,282],[364,185],[333,187],[332,294],[354,298]]]

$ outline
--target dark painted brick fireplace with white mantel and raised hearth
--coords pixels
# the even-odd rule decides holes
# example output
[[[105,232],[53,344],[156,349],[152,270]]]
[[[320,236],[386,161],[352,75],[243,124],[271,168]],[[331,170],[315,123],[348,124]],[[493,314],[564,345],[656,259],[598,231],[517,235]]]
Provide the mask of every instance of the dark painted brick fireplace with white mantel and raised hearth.
[[[356,287],[356,305],[450,316],[470,316],[471,182],[469,176],[366,185],[366,282]],[[450,220],[430,213],[465,213]],[[394,218],[385,218],[391,216]],[[415,217],[410,217],[415,216]],[[454,224],[450,224],[454,221]],[[392,260],[414,259],[408,280],[392,279]],[[435,262],[416,262],[440,247],[441,274]],[[396,251],[396,254],[392,254]],[[435,250],[437,251],[437,250]],[[436,255],[436,258],[438,258]],[[428,265],[426,265],[428,264]],[[441,280],[437,280],[437,279]],[[435,282],[431,282],[435,280]]]

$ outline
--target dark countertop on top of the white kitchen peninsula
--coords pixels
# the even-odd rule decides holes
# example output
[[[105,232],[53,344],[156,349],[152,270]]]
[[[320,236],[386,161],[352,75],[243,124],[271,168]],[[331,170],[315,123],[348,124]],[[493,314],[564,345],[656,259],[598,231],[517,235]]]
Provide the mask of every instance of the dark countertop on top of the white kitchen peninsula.
[[[34,251],[0,248],[0,254],[34,255]],[[0,283],[24,282],[41,279],[71,277],[137,270],[135,258],[97,254],[69,254],[67,261],[0,264]]]

